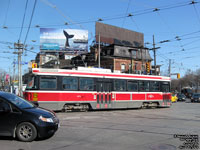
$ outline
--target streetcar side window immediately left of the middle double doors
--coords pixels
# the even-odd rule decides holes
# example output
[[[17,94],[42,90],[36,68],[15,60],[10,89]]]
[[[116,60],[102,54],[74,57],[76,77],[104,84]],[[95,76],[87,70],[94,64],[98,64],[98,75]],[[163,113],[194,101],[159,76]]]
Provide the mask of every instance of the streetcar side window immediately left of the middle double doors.
[[[94,90],[94,79],[80,78],[79,89],[81,91],[93,91]]]

